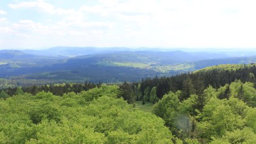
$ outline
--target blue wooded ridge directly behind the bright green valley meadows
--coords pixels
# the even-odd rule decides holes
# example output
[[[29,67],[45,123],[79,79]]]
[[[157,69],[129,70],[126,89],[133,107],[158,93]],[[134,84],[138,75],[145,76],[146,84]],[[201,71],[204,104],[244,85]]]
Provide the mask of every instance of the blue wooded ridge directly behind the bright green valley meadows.
[[[123,52],[109,52],[103,54],[93,54],[86,56],[76,56],[75,59],[98,58],[99,60],[110,61],[130,61],[150,63],[152,61],[157,63],[183,63],[188,61],[208,60],[212,58],[227,58],[225,54],[214,54],[207,52],[183,52],[183,51],[123,51]]]

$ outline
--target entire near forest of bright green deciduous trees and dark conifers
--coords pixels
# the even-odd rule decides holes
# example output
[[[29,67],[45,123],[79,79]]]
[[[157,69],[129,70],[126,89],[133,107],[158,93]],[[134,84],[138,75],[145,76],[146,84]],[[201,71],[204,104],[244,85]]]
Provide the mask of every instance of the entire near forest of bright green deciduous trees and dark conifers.
[[[5,88],[0,143],[255,143],[255,74],[255,64],[220,65],[138,83]]]

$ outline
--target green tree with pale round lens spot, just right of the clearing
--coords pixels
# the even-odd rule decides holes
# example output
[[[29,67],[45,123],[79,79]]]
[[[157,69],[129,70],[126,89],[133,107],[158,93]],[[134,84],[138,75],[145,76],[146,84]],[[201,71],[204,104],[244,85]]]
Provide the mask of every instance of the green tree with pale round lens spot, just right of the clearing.
[[[195,113],[197,95],[191,95],[189,99],[179,102],[180,92],[168,93],[153,107],[153,112],[163,118],[166,125],[179,138],[191,136],[195,130],[195,119],[191,113]]]

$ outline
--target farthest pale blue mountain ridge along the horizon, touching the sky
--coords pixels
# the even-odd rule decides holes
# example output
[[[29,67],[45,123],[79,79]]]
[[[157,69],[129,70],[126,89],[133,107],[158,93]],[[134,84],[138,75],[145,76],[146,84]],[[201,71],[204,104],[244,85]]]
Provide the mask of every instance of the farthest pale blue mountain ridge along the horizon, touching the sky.
[[[163,49],[163,48],[129,48],[129,47],[51,47],[49,49],[43,50],[20,50],[27,54],[34,54],[40,56],[83,56],[90,54],[102,54],[102,53],[111,53],[111,52],[134,52],[134,51],[152,51],[152,52],[170,52],[170,51],[183,51],[183,52],[202,52],[202,53],[215,53],[215,54],[225,54],[228,57],[232,56],[256,56],[256,51],[230,51],[228,49],[212,49],[212,51],[203,51],[200,49],[184,49],[184,48],[173,48],[173,49]]]

